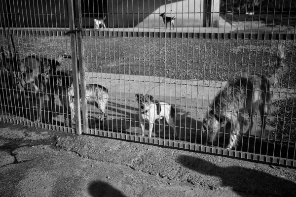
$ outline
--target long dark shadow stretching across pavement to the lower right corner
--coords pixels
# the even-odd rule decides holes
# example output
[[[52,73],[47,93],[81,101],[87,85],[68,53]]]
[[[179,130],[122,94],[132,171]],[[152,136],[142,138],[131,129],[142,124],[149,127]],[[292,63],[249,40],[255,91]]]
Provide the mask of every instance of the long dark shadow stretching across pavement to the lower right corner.
[[[178,161],[185,167],[201,174],[217,176],[222,186],[231,187],[237,194],[240,192],[295,197],[296,183],[276,177],[259,170],[240,166],[221,167],[203,159],[182,155]]]

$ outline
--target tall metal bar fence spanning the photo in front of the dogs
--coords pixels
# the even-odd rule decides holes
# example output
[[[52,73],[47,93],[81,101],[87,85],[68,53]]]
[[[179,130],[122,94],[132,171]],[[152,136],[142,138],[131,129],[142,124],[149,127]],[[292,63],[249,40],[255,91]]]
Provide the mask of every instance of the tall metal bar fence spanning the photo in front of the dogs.
[[[293,7],[5,0],[0,121],[296,166]]]

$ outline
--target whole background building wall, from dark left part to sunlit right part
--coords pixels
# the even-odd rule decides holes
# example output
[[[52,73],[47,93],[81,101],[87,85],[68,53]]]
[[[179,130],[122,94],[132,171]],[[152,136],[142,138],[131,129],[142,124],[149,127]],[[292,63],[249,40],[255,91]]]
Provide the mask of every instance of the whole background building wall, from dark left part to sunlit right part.
[[[82,0],[84,28],[94,28],[94,18],[104,15],[107,15],[106,24],[110,28],[161,28],[164,27],[164,22],[159,16],[162,12],[166,12],[167,16],[176,16],[177,27],[206,26],[207,0],[93,1],[96,3],[92,0]],[[69,27],[67,0],[3,0],[2,2],[4,12],[8,13],[6,27]]]

